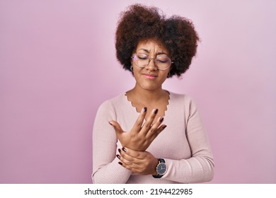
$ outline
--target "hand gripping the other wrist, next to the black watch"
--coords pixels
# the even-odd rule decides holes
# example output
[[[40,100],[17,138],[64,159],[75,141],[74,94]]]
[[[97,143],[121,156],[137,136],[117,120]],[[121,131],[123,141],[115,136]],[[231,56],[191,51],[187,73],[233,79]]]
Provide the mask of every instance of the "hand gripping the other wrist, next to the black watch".
[[[156,175],[156,166],[159,164],[157,158],[147,151],[134,151],[130,148],[119,149],[120,164],[139,175]]]

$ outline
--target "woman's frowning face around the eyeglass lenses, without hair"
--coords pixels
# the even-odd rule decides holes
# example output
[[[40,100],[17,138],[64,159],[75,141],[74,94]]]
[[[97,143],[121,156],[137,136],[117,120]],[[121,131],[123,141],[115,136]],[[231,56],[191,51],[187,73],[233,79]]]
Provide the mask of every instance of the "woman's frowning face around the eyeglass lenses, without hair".
[[[166,50],[163,45],[155,40],[147,40],[144,42],[139,42],[137,49],[132,53],[134,54],[144,54],[144,57],[152,58],[148,66],[140,68],[137,66],[132,59],[133,74],[136,80],[136,86],[143,88],[147,91],[156,91],[162,88],[163,82],[168,76],[168,72],[171,66],[166,70],[160,70],[156,67],[154,59],[159,57],[169,57],[168,50]]]

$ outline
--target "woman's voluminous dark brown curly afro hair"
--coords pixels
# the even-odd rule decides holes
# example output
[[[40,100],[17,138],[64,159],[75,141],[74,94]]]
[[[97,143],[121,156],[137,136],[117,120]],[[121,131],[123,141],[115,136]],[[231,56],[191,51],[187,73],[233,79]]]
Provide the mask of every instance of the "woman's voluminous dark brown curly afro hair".
[[[166,18],[159,8],[141,4],[129,6],[117,24],[116,56],[124,69],[131,71],[130,57],[138,43],[151,39],[161,42],[173,61],[168,78],[180,77],[189,69],[199,41],[192,22],[180,16]]]

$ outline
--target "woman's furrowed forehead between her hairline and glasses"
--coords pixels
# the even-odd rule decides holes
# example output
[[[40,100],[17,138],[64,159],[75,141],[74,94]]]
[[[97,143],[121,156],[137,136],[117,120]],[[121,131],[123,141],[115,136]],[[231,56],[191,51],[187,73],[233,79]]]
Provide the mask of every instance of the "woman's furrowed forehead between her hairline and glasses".
[[[136,52],[149,52],[150,54],[168,54],[168,50],[166,49],[166,47],[164,47],[161,42],[158,42],[156,40],[139,41]]]

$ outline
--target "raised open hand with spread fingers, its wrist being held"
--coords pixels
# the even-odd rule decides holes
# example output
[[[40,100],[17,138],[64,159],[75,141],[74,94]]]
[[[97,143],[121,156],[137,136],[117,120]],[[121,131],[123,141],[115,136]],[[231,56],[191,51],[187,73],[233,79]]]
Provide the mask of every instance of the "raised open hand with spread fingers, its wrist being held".
[[[166,125],[161,125],[163,117],[159,117],[157,122],[153,123],[157,112],[158,110],[154,109],[149,115],[149,119],[144,122],[146,117],[146,107],[144,107],[130,132],[125,132],[120,127],[120,124],[115,121],[110,121],[109,123],[113,125],[117,139],[120,140],[122,146],[135,151],[146,151],[146,148],[149,147],[156,136],[166,128]]]

